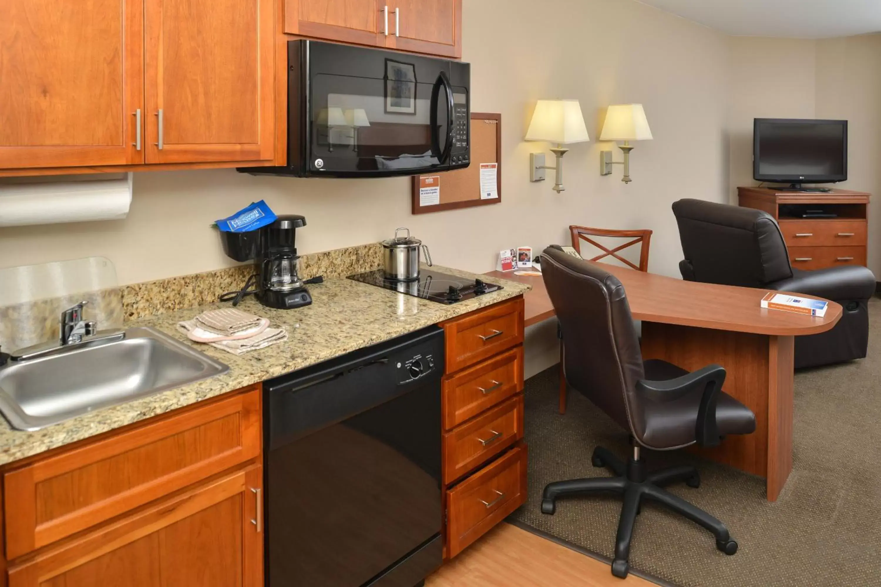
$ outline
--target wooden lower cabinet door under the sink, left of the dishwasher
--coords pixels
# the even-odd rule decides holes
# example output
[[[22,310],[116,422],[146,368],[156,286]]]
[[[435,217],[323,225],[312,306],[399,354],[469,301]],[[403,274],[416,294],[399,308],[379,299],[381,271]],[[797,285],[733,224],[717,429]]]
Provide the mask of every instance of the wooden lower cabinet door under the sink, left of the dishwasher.
[[[9,587],[263,587],[262,482],[254,465],[168,498],[12,566]]]

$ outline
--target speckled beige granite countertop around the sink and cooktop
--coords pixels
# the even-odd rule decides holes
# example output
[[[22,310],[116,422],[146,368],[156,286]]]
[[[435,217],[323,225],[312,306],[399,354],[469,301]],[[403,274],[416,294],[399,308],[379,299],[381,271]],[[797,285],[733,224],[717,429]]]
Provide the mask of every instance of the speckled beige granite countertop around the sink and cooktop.
[[[245,312],[270,319],[271,327],[285,327],[288,338],[284,342],[243,356],[234,356],[209,345],[189,341],[176,326],[181,320],[191,319],[206,310],[229,307],[228,304],[203,305],[128,322],[126,327],[155,327],[171,334],[221,363],[226,363],[229,371],[215,378],[120,406],[100,409],[34,432],[13,430],[0,418],[0,465],[297,371],[352,350],[387,341],[519,296],[529,290],[529,286],[522,283],[496,277],[437,266],[434,269],[471,279],[480,277],[485,282],[499,283],[504,289],[458,304],[443,305],[344,277],[334,277],[321,284],[309,285],[313,304],[296,310],[273,310],[263,307],[253,297],[248,297],[239,307]]]

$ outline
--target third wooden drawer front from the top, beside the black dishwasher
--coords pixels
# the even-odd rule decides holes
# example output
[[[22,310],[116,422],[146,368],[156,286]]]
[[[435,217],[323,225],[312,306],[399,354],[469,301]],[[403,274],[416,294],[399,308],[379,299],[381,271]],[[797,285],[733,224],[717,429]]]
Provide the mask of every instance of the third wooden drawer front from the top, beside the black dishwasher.
[[[443,481],[450,483],[523,437],[523,396],[443,435]]]

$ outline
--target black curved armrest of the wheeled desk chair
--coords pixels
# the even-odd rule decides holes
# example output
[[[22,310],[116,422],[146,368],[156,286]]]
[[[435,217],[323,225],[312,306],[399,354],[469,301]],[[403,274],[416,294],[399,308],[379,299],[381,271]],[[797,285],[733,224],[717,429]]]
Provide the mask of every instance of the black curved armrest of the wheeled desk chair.
[[[640,379],[636,391],[657,401],[672,401],[688,397],[698,403],[698,418],[694,425],[694,437],[702,446],[717,446],[722,437],[716,423],[716,403],[725,383],[725,368],[711,364],[703,369],[681,377],[663,381]]]

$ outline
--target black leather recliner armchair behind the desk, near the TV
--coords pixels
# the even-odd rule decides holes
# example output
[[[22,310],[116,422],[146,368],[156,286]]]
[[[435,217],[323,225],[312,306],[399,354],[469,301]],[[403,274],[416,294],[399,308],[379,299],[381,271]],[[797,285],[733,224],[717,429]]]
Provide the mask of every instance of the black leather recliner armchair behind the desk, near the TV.
[[[815,271],[793,268],[780,226],[761,210],[686,199],[673,202],[673,214],[685,254],[679,263],[683,279],[792,291],[841,305],[841,319],[832,330],[796,336],[796,368],[866,356],[869,299],[876,287],[869,269],[855,265]]]

